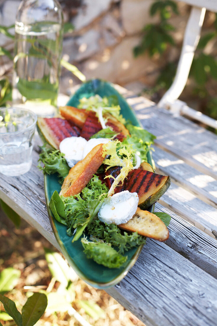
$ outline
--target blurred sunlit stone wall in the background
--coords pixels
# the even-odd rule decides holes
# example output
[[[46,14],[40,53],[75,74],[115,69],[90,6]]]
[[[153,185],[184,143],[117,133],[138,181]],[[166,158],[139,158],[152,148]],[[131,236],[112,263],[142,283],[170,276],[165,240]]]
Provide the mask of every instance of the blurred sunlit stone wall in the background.
[[[178,60],[185,25],[190,7],[178,2],[180,15],[169,22],[175,26],[173,37],[178,47],[169,47],[164,56],[147,54],[137,58],[133,48],[139,44],[142,28],[156,23],[149,9],[154,0],[60,0],[65,22],[72,22],[75,29],[65,35],[64,58],[76,65],[87,79],[98,77],[121,85],[135,82],[152,87],[161,67],[168,61]],[[21,0],[0,0],[0,24],[15,21]],[[205,26],[206,27],[206,26]],[[0,46],[13,52],[13,41],[0,34]],[[12,62],[0,56],[0,78],[12,69]],[[80,81],[65,68],[62,69],[61,92],[70,93],[70,87]]]

